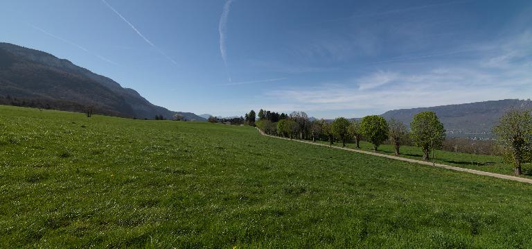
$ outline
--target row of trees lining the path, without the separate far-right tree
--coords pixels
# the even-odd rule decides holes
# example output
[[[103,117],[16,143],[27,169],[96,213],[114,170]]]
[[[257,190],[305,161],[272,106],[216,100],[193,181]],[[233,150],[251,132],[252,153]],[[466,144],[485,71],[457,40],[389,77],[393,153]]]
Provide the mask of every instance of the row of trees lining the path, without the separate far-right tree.
[[[324,119],[310,121],[305,112],[292,112],[286,119],[277,122],[260,117],[263,116],[259,114],[259,120],[255,122],[260,130],[268,135],[290,139],[328,140],[330,145],[341,141],[342,146],[346,146],[347,141],[354,141],[355,146],[360,148],[360,141],[364,138],[373,144],[375,151],[384,141],[389,141],[396,155],[399,155],[400,146],[411,140],[422,149],[424,160],[429,158],[432,149],[441,148],[445,140],[445,129],[435,112],[417,114],[410,124],[410,132],[404,123],[395,119],[387,121],[377,115],[366,116],[360,121],[339,117],[331,123]]]

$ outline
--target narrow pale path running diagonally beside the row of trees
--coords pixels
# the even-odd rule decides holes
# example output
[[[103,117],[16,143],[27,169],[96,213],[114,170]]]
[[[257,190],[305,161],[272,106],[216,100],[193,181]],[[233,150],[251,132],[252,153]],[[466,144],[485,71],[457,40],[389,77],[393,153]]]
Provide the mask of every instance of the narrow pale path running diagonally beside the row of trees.
[[[327,144],[318,144],[318,143],[314,143],[312,141],[298,140],[298,139],[287,139],[285,137],[276,137],[276,136],[272,136],[272,135],[267,135],[262,130],[260,130],[260,129],[257,129],[257,130],[258,130],[258,132],[260,132],[261,135],[264,135],[264,136],[267,136],[267,137],[274,137],[274,138],[277,138],[277,139],[298,141],[298,142],[304,143],[304,144],[312,144],[312,145],[317,145],[317,146],[329,147]],[[344,150],[344,151],[353,151],[353,152],[356,152],[356,153],[362,153],[362,154],[367,154],[367,155],[376,155],[378,157],[387,157],[387,158],[390,158],[390,159],[393,159],[393,160],[400,160],[400,161],[405,161],[405,162],[413,162],[415,164],[425,164],[425,165],[428,165],[428,166],[435,166],[435,167],[440,167],[440,168],[445,168],[445,169],[452,169],[453,171],[463,171],[463,172],[473,173],[473,174],[477,174],[477,175],[488,175],[488,176],[492,176],[494,178],[502,178],[502,179],[506,179],[506,180],[514,180],[514,181],[517,181],[517,182],[532,183],[532,179],[520,178],[520,177],[513,176],[513,175],[502,175],[502,174],[490,173],[490,172],[486,172],[486,171],[477,171],[475,169],[464,169],[464,168],[460,168],[460,167],[456,167],[456,166],[450,166],[450,165],[445,165],[445,164],[434,164],[433,162],[414,160],[414,159],[409,159],[409,158],[405,158],[405,157],[396,157],[394,155],[385,155],[385,154],[380,154],[380,153],[374,153],[374,152],[371,152],[371,151],[362,151],[362,150],[357,150],[357,149],[354,149],[354,148],[342,148],[342,147],[337,147],[337,146],[332,146],[331,148],[336,148],[336,149]]]

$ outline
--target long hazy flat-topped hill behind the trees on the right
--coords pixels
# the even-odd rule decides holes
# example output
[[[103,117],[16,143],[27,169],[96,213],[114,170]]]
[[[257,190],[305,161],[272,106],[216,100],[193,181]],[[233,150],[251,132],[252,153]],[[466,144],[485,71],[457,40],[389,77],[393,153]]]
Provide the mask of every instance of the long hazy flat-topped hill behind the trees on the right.
[[[450,136],[489,137],[499,118],[512,108],[532,109],[532,101],[505,99],[502,101],[484,101],[460,105],[442,105],[432,108],[414,108],[391,110],[382,114],[386,119],[394,118],[409,126],[412,117],[422,111],[436,112]]]

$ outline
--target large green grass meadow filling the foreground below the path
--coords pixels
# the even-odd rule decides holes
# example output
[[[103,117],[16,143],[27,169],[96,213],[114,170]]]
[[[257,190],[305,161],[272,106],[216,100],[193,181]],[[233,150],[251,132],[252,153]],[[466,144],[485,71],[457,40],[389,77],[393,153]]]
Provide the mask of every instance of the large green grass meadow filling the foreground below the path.
[[[251,127],[0,105],[3,248],[531,248],[531,191]]]

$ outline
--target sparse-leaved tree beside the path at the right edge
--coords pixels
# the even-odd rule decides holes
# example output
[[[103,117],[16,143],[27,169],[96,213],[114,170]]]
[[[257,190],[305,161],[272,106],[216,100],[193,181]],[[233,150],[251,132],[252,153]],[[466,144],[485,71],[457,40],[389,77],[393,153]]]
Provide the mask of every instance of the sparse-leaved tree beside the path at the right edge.
[[[512,162],[515,175],[521,174],[521,164],[530,162],[532,154],[532,117],[530,111],[511,110],[493,128],[504,148],[506,160]]]

